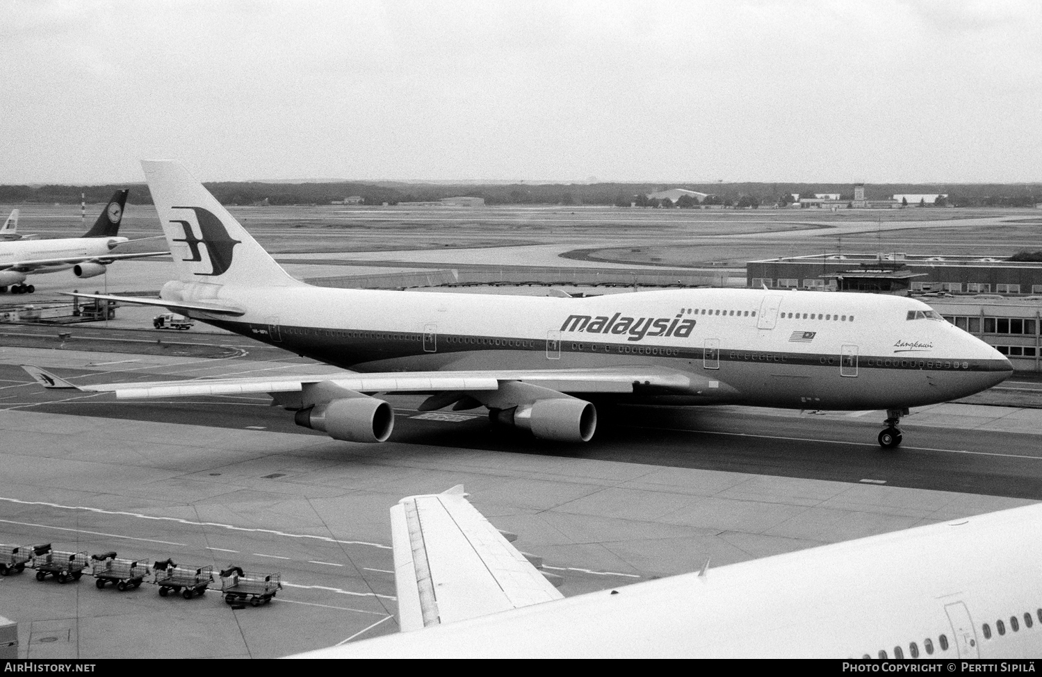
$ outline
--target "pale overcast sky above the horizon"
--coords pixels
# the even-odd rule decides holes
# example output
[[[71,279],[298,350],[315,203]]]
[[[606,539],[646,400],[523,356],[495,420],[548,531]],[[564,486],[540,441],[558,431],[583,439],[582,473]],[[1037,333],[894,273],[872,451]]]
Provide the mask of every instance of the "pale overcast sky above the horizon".
[[[0,183],[1042,180],[1042,2],[0,0]]]

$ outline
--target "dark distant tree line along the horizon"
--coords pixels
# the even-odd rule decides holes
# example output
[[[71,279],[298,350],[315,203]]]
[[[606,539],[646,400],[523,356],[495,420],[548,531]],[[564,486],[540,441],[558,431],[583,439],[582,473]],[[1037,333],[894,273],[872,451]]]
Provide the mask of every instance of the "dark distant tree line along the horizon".
[[[849,183],[511,183],[511,184],[442,184],[388,182],[325,182],[266,183],[260,181],[221,181],[206,187],[222,204],[329,204],[350,196],[361,196],[364,204],[399,204],[401,202],[436,202],[442,198],[469,196],[483,198],[486,204],[557,204],[618,205],[640,207],[695,207],[721,205],[756,208],[786,206],[792,194],[840,194],[841,199],[853,199]],[[0,203],[61,203],[76,204],[80,193],[91,203],[103,202],[117,189],[130,189],[132,204],[151,204],[152,197],[144,183],[107,185],[0,185]],[[683,196],[674,204],[646,196],[665,189],[681,187],[710,194],[701,203]],[[948,195],[935,206],[957,207],[1029,207],[1042,203],[1042,183],[874,183],[865,186],[865,197],[890,198],[894,194]],[[929,206],[929,205],[926,205]]]

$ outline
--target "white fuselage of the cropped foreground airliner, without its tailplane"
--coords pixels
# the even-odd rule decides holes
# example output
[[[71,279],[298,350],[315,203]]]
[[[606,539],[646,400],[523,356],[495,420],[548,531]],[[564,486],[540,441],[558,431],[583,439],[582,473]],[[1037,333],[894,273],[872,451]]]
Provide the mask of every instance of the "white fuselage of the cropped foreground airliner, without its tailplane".
[[[1038,658],[1040,528],[1033,505],[304,656]]]

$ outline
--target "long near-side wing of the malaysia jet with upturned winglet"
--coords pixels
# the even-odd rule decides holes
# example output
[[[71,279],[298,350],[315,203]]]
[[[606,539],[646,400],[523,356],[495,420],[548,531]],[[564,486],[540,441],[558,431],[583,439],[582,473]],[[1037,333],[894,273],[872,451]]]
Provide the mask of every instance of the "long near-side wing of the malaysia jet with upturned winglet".
[[[105,297],[92,296],[92,298]],[[84,385],[74,385],[38,367],[23,366],[23,369],[44,387],[75,387],[91,393],[115,393],[119,399],[296,393],[312,383],[332,383],[358,393],[476,393],[498,391],[505,382],[523,382],[569,393],[618,394],[632,393],[635,387],[656,388],[663,392],[688,392],[693,385],[696,385],[693,383],[691,375],[647,365],[607,369],[382,372],[370,374],[344,372],[332,375],[287,374],[278,377],[131,381]],[[56,382],[65,384],[55,385]],[[715,386],[709,385],[709,387]],[[451,402],[446,404],[451,404]]]

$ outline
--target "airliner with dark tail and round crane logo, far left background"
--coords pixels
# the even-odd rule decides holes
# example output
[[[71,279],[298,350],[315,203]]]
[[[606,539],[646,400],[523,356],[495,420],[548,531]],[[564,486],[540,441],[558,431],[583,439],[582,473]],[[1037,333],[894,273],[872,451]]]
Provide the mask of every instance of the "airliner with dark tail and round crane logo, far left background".
[[[114,193],[101,216],[82,237],[0,242],[0,293],[6,292],[9,286],[11,294],[32,294],[36,287],[25,283],[29,274],[54,273],[71,268],[76,277],[94,277],[104,273],[105,266],[114,260],[168,255],[169,252],[165,251],[111,253],[117,245],[128,242],[126,237],[117,235],[128,193],[126,189]],[[17,209],[15,219],[17,222]]]

